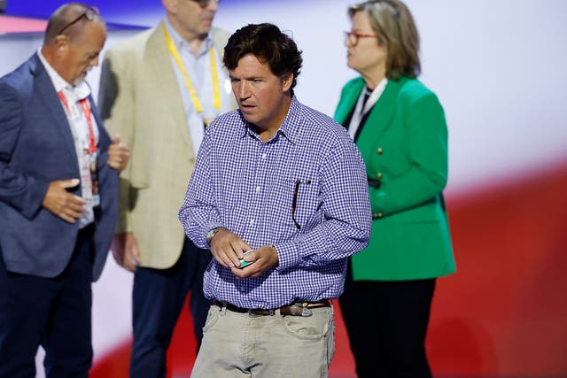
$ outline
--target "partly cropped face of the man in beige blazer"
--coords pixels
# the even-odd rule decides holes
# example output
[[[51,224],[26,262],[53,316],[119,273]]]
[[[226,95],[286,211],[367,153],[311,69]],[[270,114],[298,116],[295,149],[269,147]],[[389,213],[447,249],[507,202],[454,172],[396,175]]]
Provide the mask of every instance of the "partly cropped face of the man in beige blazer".
[[[183,35],[198,37],[206,35],[213,26],[214,13],[218,10],[216,0],[211,0],[205,8],[193,0],[175,0],[175,19],[183,29]]]

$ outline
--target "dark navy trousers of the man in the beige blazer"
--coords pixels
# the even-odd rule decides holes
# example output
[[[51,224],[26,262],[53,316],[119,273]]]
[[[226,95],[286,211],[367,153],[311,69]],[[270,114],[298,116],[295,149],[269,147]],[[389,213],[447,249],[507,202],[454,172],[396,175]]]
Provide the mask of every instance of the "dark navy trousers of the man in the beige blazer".
[[[167,347],[189,291],[190,313],[200,345],[211,305],[203,295],[203,274],[210,261],[210,251],[198,249],[185,237],[174,266],[137,268],[132,294],[134,344],[130,377],[165,377]]]

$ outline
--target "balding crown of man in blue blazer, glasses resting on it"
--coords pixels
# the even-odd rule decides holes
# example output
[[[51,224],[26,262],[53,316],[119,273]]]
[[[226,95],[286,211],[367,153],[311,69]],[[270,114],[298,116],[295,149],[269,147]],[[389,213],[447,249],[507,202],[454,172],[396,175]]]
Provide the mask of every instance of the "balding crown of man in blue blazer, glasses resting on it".
[[[58,35],[66,35],[70,40],[74,40],[82,36],[85,24],[88,22],[104,24],[96,8],[91,8],[82,3],[63,4],[51,14],[45,30],[43,44],[52,44]]]

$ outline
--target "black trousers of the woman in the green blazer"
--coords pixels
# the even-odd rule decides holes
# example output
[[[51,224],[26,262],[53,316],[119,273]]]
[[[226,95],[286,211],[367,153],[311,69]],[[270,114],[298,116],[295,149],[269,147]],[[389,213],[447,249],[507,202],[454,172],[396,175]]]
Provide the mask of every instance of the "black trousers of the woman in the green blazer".
[[[356,281],[339,304],[359,378],[431,378],[425,336],[435,279]]]

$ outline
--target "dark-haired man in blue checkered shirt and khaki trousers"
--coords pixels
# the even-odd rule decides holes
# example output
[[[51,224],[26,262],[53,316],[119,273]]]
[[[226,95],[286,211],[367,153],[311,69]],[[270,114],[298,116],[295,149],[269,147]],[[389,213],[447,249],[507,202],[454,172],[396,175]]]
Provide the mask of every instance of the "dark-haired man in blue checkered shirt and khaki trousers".
[[[344,127],[294,96],[301,52],[278,27],[237,30],[224,65],[239,109],[207,127],[179,212],[214,257],[191,376],[326,376],[330,299],[369,242],[364,163]]]

